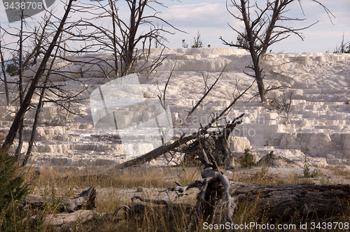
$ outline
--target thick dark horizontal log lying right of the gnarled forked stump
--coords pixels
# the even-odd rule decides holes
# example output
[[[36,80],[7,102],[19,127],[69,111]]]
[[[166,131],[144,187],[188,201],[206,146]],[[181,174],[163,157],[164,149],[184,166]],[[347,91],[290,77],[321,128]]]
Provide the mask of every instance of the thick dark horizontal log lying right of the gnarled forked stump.
[[[258,201],[260,214],[264,212],[272,222],[286,221],[290,215],[325,219],[349,212],[350,185],[262,185],[230,181],[230,195],[237,206],[244,199]]]

